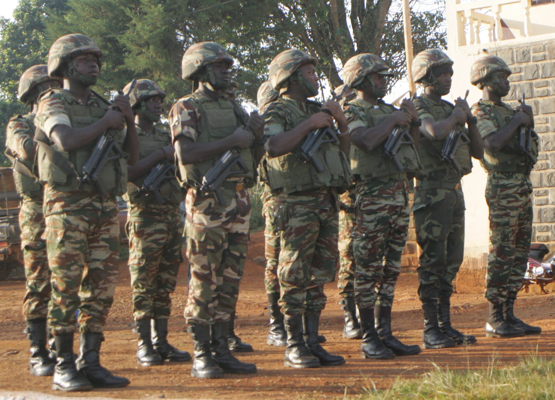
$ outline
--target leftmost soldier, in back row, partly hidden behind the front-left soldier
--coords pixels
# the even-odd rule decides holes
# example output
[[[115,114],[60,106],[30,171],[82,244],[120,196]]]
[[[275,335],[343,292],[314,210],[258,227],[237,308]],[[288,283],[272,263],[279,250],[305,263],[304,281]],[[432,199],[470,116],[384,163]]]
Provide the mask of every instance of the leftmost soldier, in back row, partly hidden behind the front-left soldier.
[[[13,165],[16,190],[22,196],[19,210],[21,248],[27,278],[27,291],[23,300],[23,316],[27,321],[27,336],[31,342],[29,370],[35,376],[50,376],[54,373],[56,355],[46,349],[48,302],[52,292],[50,270],[46,255],[46,242],[42,212],[42,185],[38,182],[38,170],[34,158],[34,117],[37,114],[39,94],[50,88],[62,87],[62,82],[48,76],[46,65],[34,65],[19,79],[19,100],[31,106],[26,115],[10,118],[6,130],[6,155]]]

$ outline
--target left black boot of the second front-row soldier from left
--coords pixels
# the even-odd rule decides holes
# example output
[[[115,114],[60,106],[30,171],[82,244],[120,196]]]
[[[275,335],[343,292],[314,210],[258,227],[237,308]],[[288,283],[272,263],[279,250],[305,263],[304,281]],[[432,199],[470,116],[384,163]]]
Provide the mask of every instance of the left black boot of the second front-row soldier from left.
[[[210,326],[192,325],[193,345],[195,348],[193,358],[193,368],[191,376],[197,378],[221,378],[224,376],[223,369],[220,368],[210,350]]]

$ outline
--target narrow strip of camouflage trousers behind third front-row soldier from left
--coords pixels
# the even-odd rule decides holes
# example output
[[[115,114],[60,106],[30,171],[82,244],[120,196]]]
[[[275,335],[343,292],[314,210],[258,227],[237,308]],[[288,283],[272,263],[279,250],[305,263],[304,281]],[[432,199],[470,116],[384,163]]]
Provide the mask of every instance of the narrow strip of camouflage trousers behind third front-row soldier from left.
[[[264,256],[266,269],[264,271],[264,286],[266,293],[279,293],[278,262],[280,252],[280,233],[276,226],[276,210],[274,195],[270,192],[263,193],[262,216],[266,221],[264,229]]]

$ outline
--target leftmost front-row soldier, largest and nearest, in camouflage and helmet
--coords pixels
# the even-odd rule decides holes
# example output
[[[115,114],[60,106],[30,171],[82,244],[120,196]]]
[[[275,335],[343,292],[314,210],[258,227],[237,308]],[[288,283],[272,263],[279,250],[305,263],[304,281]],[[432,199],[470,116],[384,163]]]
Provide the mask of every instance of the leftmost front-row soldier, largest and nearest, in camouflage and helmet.
[[[44,92],[35,118],[37,163],[45,184],[43,237],[52,271],[48,323],[58,356],[54,390],[85,391],[129,384],[127,378],[114,376],[100,366],[99,352],[118,276],[115,196],[125,192],[127,164],[137,160],[139,143],[129,99],[119,95],[110,107],[107,100],[91,90],[97,82],[102,57],[98,45],[82,34],[56,40],[48,54],[48,74],[63,77],[64,89]],[[83,166],[104,133],[112,136],[113,149],[127,151],[129,159],[125,159],[127,154],[113,157],[97,184],[85,183]],[[77,310],[81,337],[75,363]]]

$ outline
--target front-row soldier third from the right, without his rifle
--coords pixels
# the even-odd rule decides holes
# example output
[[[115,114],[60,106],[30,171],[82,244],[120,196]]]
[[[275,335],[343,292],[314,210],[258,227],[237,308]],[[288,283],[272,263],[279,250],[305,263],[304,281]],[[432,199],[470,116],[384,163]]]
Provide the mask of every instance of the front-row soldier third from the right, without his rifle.
[[[420,353],[391,332],[391,307],[401,254],[408,232],[407,172],[421,168],[416,145],[420,120],[414,104],[403,100],[397,110],[382,100],[393,76],[377,55],[364,53],[344,65],[344,80],[356,98],[344,105],[352,143],[351,167],[356,181],[356,219],[352,236],[354,292],[365,358],[386,359]],[[396,126],[410,126],[413,145],[402,145],[391,159],[385,144]],[[403,139],[405,140],[405,139]]]

